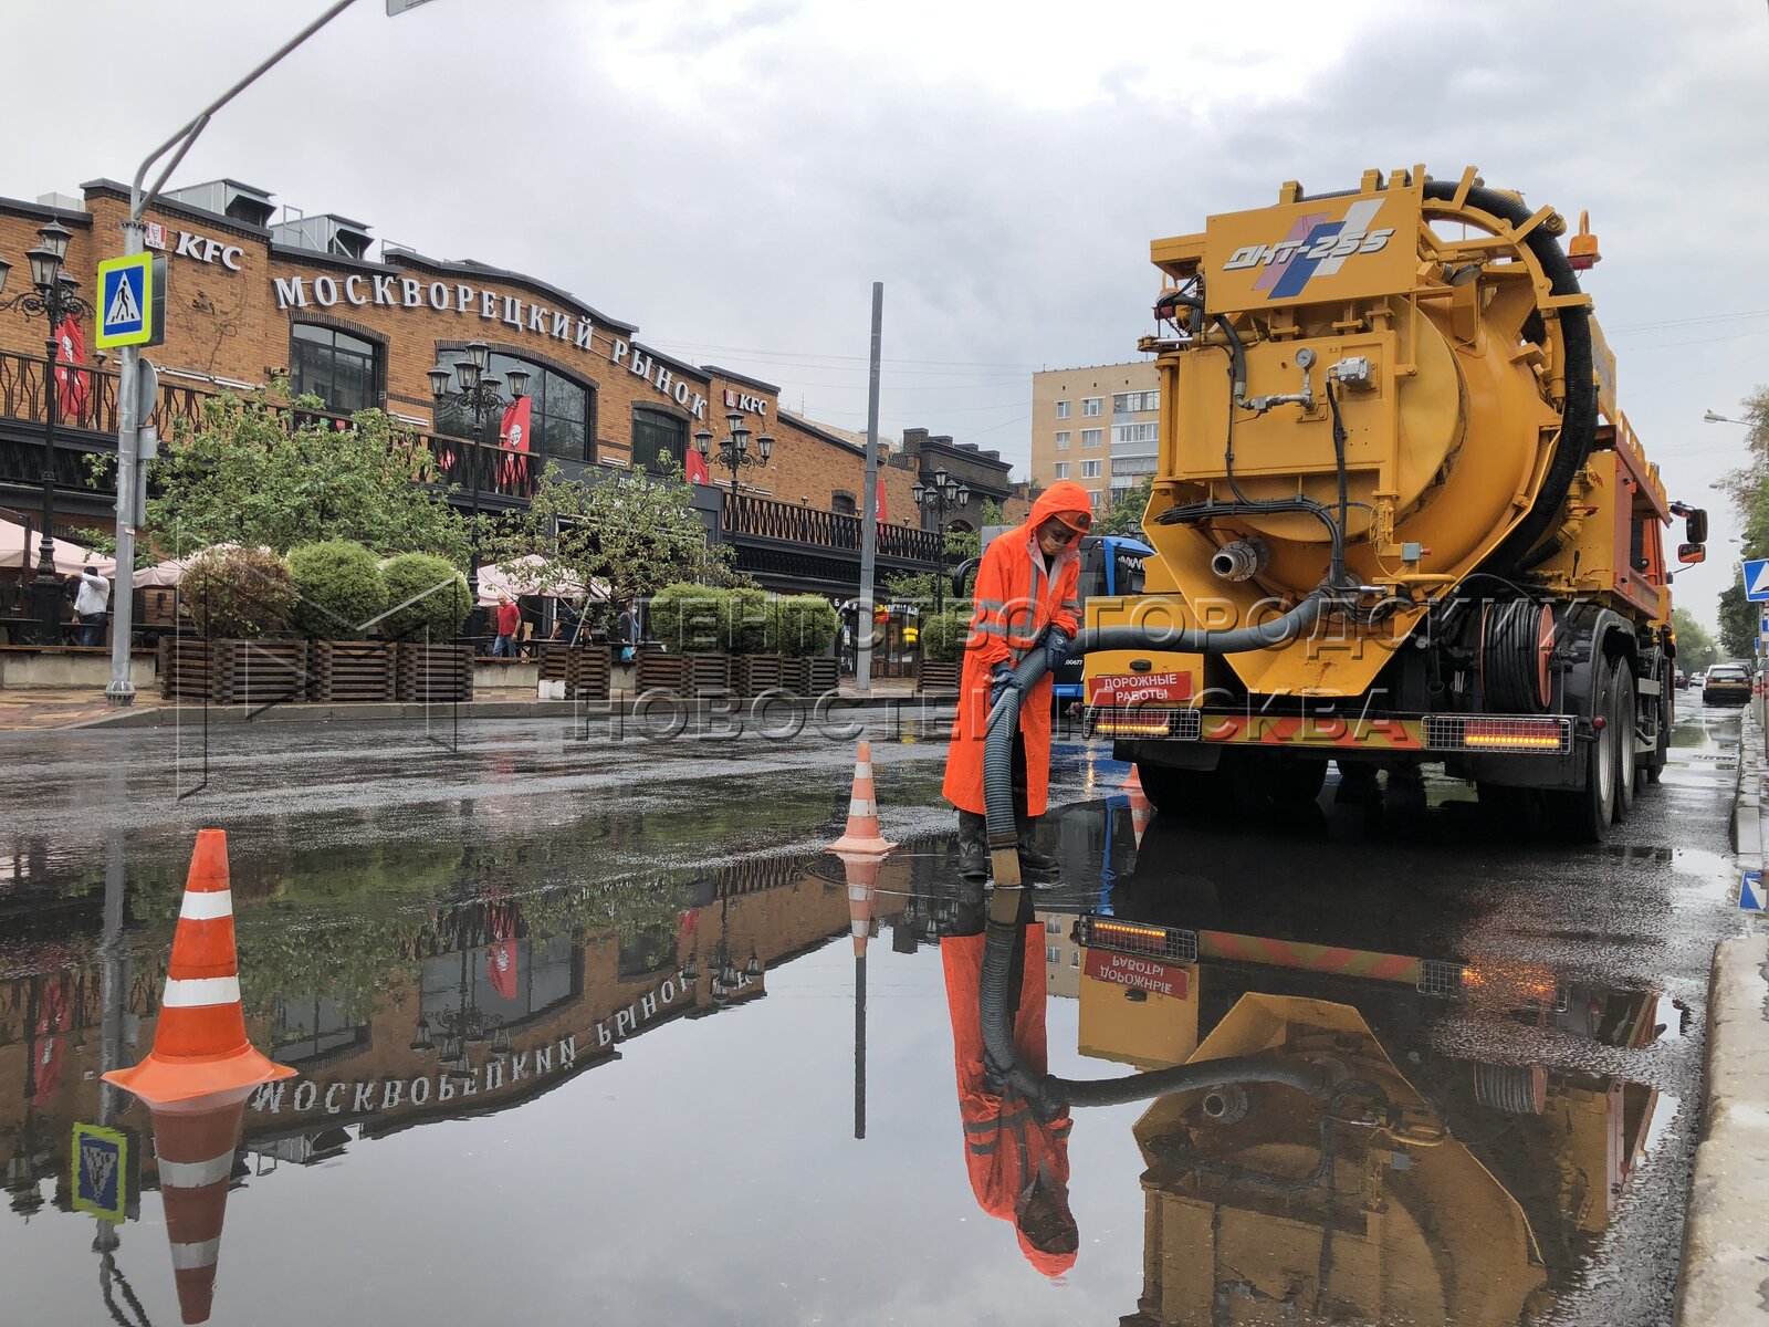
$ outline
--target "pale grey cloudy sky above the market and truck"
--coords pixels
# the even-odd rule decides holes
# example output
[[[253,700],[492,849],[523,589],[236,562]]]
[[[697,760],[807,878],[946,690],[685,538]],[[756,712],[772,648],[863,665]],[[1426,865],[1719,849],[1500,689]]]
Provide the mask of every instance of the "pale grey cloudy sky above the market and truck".
[[[0,193],[134,165],[324,0],[9,0]],[[78,57],[78,58],[74,58]],[[863,428],[1024,465],[1030,373],[1134,359],[1148,241],[1286,179],[1481,166],[1590,209],[1587,288],[1675,497],[1711,501],[1769,384],[1764,0],[953,4],[357,0],[228,106],[172,184],[564,287]],[[145,92],[134,94],[133,87]],[[1712,619],[1714,561],[1679,577]]]

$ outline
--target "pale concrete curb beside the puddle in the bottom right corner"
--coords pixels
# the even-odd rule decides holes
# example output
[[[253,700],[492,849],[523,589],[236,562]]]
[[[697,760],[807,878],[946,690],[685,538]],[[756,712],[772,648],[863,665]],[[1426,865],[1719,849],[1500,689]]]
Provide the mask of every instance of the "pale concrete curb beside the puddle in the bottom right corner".
[[[1769,1304],[1769,936],[1714,947],[1707,1092],[1682,1231],[1677,1322],[1762,1327]]]

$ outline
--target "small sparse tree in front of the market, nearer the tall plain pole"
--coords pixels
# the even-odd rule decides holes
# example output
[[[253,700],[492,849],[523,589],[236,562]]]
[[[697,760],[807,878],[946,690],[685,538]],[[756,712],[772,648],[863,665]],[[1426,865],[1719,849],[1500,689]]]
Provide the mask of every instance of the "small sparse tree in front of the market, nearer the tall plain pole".
[[[693,485],[672,474],[610,472],[580,483],[552,462],[541,472],[527,511],[494,529],[492,556],[508,563],[538,554],[554,570],[591,589],[593,626],[614,625],[623,603],[644,600],[681,580],[729,582],[731,547],[709,547],[693,510]]]

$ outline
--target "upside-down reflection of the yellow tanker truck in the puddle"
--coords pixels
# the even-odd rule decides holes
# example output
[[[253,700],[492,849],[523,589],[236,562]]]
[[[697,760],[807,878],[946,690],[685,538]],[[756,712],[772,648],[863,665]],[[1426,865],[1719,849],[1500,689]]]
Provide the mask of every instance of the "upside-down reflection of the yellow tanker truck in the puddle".
[[[1295,1056],[1339,1086],[1325,1102],[1206,1088],[1143,1113],[1145,1285],[1123,1322],[1541,1320],[1672,1102],[1527,1056],[1465,1058],[1442,1049],[1445,1024],[1635,1049],[1675,1035],[1681,1010],[1535,964],[1360,948],[1360,931],[1392,932],[1355,911],[1298,931],[1268,906],[1275,886],[1219,901],[1201,848],[1183,901],[1171,872],[1160,901],[1132,872],[1118,915],[1076,922],[1081,1053],[1139,1069]],[[1143,849],[1171,863],[1178,833],[1157,819]]]

